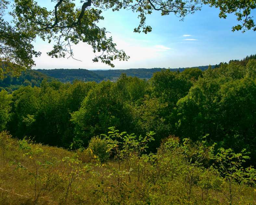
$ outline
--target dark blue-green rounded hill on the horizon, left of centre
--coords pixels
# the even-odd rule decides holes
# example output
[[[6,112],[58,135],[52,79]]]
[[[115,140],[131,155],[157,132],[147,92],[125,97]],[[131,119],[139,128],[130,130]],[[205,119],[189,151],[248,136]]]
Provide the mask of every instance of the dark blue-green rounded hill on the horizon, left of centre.
[[[37,69],[37,71],[44,73],[47,76],[57,78],[61,82],[72,82],[73,80],[95,81],[100,82],[104,79],[103,76],[98,75],[87,69]]]

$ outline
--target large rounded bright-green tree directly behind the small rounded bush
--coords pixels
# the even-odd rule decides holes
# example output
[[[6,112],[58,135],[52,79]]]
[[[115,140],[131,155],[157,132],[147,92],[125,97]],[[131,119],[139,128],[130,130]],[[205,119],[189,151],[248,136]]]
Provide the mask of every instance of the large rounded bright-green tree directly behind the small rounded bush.
[[[123,130],[131,128],[129,109],[117,95],[114,84],[103,81],[89,91],[80,109],[72,114],[75,135],[85,145],[90,138],[100,135],[110,126]]]

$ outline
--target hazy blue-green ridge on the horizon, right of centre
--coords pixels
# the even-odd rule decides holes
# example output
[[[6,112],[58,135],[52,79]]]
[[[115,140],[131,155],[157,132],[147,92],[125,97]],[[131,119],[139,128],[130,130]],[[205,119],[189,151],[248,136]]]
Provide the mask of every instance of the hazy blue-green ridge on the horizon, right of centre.
[[[215,66],[212,66],[214,68]],[[197,66],[192,68],[199,68],[202,71],[206,70],[208,66]],[[165,70],[166,68],[131,68],[131,69],[118,69],[118,70],[93,70],[94,73],[104,76],[107,79],[115,80],[119,78],[122,73],[125,73],[127,76],[137,77],[137,78],[152,78],[155,72],[159,72],[161,70]],[[171,68],[170,70],[175,72],[182,72],[186,68]]]

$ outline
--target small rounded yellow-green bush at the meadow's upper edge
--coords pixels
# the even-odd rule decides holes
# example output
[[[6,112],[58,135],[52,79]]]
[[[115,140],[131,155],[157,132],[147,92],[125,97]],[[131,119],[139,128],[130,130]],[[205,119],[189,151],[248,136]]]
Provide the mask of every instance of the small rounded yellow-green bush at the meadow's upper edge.
[[[98,136],[93,137],[89,142],[88,149],[101,163],[109,160],[109,146],[107,140],[101,139]]]

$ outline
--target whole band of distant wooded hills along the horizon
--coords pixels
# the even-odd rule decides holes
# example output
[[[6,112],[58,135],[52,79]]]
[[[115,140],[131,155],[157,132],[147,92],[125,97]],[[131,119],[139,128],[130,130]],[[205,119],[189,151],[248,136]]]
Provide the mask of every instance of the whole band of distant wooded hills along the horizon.
[[[245,66],[250,59],[256,59],[256,55],[246,56],[242,60],[231,60],[239,65]],[[224,63],[226,64],[226,63]],[[219,67],[221,64],[211,66],[212,68]],[[190,67],[198,68],[202,71],[206,70],[208,66]],[[168,68],[169,69],[169,68]],[[172,72],[182,72],[187,68],[171,68]],[[80,81],[95,81],[101,82],[102,80],[117,81],[117,79],[124,73],[127,76],[137,77],[141,79],[150,79],[153,74],[166,70],[165,68],[136,68],[136,69],[115,69],[115,70],[87,70],[87,69],[37,69],[26,70],[21,72],[19,78],[14,77],[11,73],[6,74],[5,78],[0,79],[0,90],[5,89],[9,93],[17,90],[21,86],[37,86],[40,87],[42,80],[47,81],[58,80],[63,83],[74,80]]]

